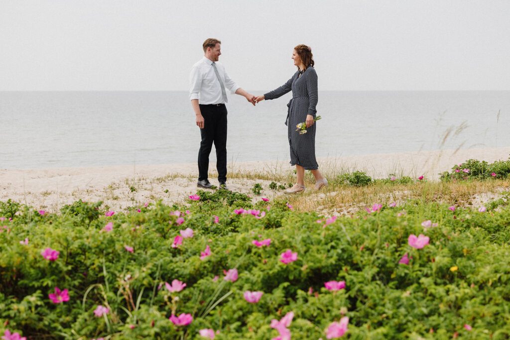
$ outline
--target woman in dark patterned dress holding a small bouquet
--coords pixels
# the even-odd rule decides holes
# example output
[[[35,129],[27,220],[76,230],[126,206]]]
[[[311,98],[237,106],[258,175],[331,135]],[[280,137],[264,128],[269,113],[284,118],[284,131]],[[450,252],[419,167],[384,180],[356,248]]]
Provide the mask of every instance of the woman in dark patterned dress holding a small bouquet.
[[[297,45],[292,53],[294,65],[298,70],[285,85],[258,96],[256,101],[276,99],[292,90],[292,99],[287,104],[289,108],[285,124],[288,126],[290,144],[290,164],[296,166],[296,184],[287,189],[287,194],[304,191],[304,170],[312,171],[315,177],[317,190],[327,185],[327,180],[318,170],[315,159],[315,122],[317,114],[317,73],[314,69],[312,49],[307,45]],[[299,134],[296,125],[302,122],[307,124],[307,133]]]

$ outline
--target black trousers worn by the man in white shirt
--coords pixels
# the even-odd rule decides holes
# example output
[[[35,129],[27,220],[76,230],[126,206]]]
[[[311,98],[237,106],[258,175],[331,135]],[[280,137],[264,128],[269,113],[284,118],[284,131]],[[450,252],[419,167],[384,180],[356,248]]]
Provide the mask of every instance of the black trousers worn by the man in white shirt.
[[[218,181],[226,181],[226,107],[200,105],[204,126],[200,129],[202,141],[198,150],[198,180],[208,179],[209,154],[211,148],[216,149],[216,169]]]

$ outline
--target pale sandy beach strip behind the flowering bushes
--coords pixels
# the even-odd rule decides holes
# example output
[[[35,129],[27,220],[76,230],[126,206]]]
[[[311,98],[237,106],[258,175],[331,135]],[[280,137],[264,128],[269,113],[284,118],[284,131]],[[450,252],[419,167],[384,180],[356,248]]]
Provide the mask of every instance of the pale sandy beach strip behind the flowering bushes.
[[[373,178],[396,176],[438,180],[439,173],[468,159],[494,162],[507,160],[510,147],[464,150],[437,150],[388,154],[368,154],[319,159],[319,167],[327,176],[346,171],[365,171]],[[229,163],[229,173],[246,174],[248,179],[228,179],[231,190],[250,193],[256,182],[262,184],[261,196],[282,195],[268,189],[274,174],[290,173],[288,161]],[[211,162],[210,171],[214,169]],[[125,165],[95,168],[0,169],[0,201],[12,199],[38,209],[57,212],[63,204],[82,199],[102,200],[114,210],[162,199],[165,203],[184,201],[196,192],[196,164]],[[237,175],[236,177],[242,177]],[[210,178],[217,185],[214,175]]]

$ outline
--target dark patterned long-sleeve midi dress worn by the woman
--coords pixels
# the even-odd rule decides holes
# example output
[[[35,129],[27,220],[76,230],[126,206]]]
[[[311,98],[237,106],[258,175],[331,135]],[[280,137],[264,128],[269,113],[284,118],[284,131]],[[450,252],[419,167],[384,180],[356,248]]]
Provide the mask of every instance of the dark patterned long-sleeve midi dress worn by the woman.
[[[307,133],[300,135],[296,125],[307,121],[307,115],[314,118],[317,114],[317,73],[313,66],[299,76],[299,71],[283,86],[264,94],[265,99],[276,99],[292,90],[292,99],[287,104],[288,113],[285,125],[288,128],[290,145],[290,164],[300,165],[305,170],[319,168],[315,159],[315,131],[317,123],[307,128]]]

